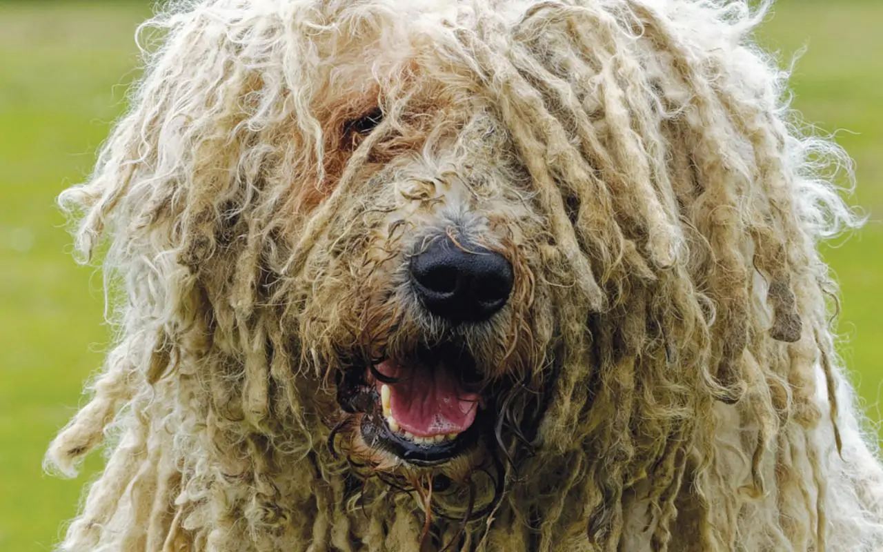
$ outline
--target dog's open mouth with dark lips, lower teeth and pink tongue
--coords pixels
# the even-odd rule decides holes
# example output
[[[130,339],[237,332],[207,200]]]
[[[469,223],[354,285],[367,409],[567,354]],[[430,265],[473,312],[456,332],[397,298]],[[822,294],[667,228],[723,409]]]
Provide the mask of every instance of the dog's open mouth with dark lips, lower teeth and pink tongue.
[[[437,465],[477,441],[482,400],[472,357],[453,345],[384,359],[338,377],[344,411],[363,412],[365,442],[415,465]]]

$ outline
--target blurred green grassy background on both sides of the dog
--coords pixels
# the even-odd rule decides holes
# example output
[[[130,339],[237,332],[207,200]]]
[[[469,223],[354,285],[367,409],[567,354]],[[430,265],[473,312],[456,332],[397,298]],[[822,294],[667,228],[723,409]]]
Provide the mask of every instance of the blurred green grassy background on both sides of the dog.
[[[82,180],[137,76],[146,2],[0,2],[0,551],[49,550],[74,513],[77,480],[41,460],[101,365],[102,278],[69,256],[55,207]],[[827,247],[842,286],[841,354],[872,420],[883,381],[883,2],[784,0],[760,36],[782,64],[804,45],[794,105],[857,162],[852,203],[871,221]],[[847,130],[840,130],[847,129]]]

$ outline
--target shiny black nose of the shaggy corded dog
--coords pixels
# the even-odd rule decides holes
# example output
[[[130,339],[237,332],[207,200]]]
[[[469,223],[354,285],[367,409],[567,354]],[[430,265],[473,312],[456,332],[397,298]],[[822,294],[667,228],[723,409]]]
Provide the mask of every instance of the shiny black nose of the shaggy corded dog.
[[[411,258],[411,276],[426,309],[449,321],[482,321],[509,299],[512,265],[500,253],[436,239]]]

